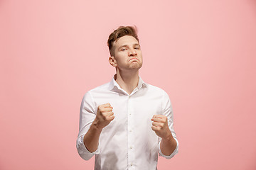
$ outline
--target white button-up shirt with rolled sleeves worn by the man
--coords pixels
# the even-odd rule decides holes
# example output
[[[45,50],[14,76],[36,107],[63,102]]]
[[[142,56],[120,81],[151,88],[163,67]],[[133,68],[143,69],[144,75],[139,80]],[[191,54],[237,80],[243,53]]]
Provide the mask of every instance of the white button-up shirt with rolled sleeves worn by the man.
[[[97,114],[97,106],[110,103],[114,120],[103,128],[95,152],[89,152],[83,138]],[[153,115],[166,115],[168,125],[177,142],[174,152],[166,156],[160,149],[161,137],[151,129]],[[87,91],[82,98],[77,140],[78,153],[88,160],[95,155],[95,169],[157,169],[158,153],[166,159],[178,153],[174,132],[173,112],[168,94],[144,83],[139,78],[137,88],[127,94],[112,79],[107,84]]]

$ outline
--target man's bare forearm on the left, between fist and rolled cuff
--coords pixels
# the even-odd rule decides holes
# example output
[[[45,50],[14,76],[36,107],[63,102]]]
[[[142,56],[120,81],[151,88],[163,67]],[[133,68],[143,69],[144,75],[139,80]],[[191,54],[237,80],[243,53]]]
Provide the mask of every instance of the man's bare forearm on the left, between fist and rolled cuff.
[[[98,128],[95,121],[90,126],[90,129],[84,136],[84,144],[89,152],[95,152],[99,145],[100,133],[102,132],[101,128]]]

